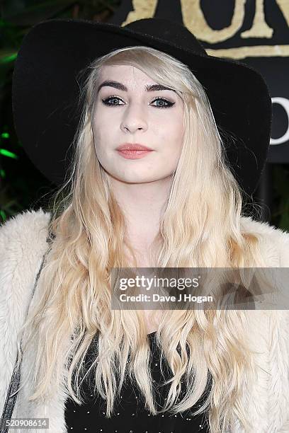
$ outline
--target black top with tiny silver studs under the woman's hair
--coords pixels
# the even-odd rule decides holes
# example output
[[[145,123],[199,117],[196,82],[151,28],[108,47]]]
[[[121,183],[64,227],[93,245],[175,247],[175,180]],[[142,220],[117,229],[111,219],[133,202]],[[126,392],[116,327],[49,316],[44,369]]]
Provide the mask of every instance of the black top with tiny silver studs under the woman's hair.
[[[150,367],[154,385],[157,387],[157,410],[164,407],[164,401],[169,389],[169,385],[160,386],[164,382],[164,366],[159,368],[160,353],[155,343],[155,332],[148,335],[149,344],[152,350]],[[89,353],[89,352],[88,352]],[[87,356],[87,355],[86,355]],[[88,375],[89,376],[89,375]],[[84,393],[87,403],[77,405],[70,398],[67,399],[65,409],[65,422],[67,432],[94,432],[94,433],[209,433],[208,413],[191,416],[189,410],[186,412],[172,415],[169,412],[152,415],[143,403],[144,398],[140,396],[137,386],[123,385],[120,396],[120,403],[116,405],[113,416],[106,417],[106,402],[101,396],[94,397],[93,391],[88,385],[89,381],[84,381]],[[210,391],[211,380],[208,380],[207,388],[202,398],[194,405],[191,410],[195,411],[205,400],[205,396]],[[92,387],[93,388],[93,387]],[[183,393],[181,394],[182,398]]]

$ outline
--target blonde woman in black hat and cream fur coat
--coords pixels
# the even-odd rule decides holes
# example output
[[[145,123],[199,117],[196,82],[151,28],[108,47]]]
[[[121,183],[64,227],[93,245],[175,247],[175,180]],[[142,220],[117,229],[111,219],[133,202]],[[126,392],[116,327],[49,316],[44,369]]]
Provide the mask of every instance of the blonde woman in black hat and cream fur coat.
[[[103,45],[91,43],[93,35]],[[13,417],[49,418],[49,432],[289,431],[288,311],[187,308],[157,316],[111,308],[113,268],[288,266],[288,233],[242,209],[242,192],[256,187],[268,150],[263,79],[206,56],[188,30],[165,20],[36,25],[18,54],[14,118],[30,157],[58,182],[71,131],[55,110],[75,90],[76,70],[88,74],[69,178],[51,213],[19,214],[0,231],[1,401],[19,332]],[[232,144],[234,136],[241,139]],[[56,161],[51,137],[59,137]],[[149,151],[125,150],[131,144]],[[50,249],[26,319],[48,229]]]

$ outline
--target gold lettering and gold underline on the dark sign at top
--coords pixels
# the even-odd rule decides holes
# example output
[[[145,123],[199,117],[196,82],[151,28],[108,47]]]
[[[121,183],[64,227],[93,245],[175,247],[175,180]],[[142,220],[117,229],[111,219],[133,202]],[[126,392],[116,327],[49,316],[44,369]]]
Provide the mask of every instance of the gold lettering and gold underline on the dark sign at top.
[[[219,0],[221,1],[221,0]],[[273,29],[265,21],[264,0],[255,0],[256,7],[252,26],[240,34],[242,38],[249,37],[267,37],[271,38]],[[121,25],[132,23],[132,21],[142,18],[152,18],[157,9],[158,0],[132,0],[133,11]],[[234,13],[231,24],[222,30],[210,28],[202,8],[200,0],[181,0],[181,13],[183,15],[183,24],[198,39],[210,44],[222,42],[234,36],[244,23],[246,0],[234,0]],[[276,4],[283,13],[285,21],[289,25],[289,0],[276,0]],[[231,57],[233,59],[244,59],[245,57],[272,57],[272,56],[289,56],[289,45],[255,45],[236,48],[227,48],[223,50],[207,49],[206,52],[217,57]]]

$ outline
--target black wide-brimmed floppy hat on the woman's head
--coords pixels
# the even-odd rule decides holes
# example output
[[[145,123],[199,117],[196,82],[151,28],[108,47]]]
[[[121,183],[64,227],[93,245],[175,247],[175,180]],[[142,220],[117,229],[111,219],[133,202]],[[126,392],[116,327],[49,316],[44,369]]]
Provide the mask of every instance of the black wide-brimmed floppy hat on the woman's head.
[[[18,139],[34,165],[52,183],[64,182],[79,124],[79,86],[86,78],[80,71],[97,57],[134,45],[170,54],[195,74],[210,100],[227,163],[251,195],[271,135],[271,97],[263,77],[241,62],[209,56],[187,28],[160,18],[123,27],[57,18],[31,28],[13,71],[12,105]]]

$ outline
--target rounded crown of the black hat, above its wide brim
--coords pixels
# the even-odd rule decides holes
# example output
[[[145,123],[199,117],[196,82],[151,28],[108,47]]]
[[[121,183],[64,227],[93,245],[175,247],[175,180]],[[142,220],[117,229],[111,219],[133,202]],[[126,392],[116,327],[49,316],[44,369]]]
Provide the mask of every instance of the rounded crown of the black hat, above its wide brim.
[[[204,47],[184,25],[165,18],[142,18],[132,21],[123,28],[152,37],[159,37],[170,44],[179,46],[183,50],[191,50],[196,54],[208,55]]]

